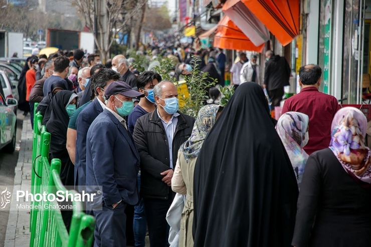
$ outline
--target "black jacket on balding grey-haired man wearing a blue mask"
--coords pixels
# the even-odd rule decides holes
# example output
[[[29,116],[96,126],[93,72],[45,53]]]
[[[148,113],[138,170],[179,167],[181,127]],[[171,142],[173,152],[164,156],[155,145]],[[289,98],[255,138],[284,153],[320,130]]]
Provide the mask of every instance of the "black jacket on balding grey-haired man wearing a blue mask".
[[[175,168],[181,144],[191,136],[195,119],[179,113],[172,140],[172,167]],[[167,199],[169,189],[160,175],[170,166],[167,136],[157,110],[140,117],[134,128],[133,138],[140,156],[141,187],[143,197]]]

